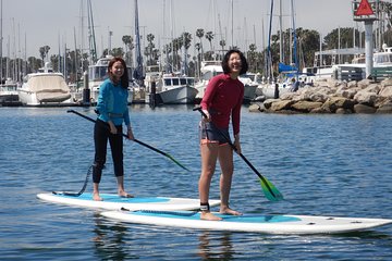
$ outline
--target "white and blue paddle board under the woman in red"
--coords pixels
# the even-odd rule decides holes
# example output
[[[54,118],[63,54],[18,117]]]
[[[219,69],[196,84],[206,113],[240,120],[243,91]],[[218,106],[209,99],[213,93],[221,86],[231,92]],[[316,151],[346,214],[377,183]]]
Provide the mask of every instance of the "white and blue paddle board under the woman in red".
[[[358,219],[310,215],[224,215],[222,221],[200,220],[199,212],[192,211],[107,211],[106,217],[148,225],[174,226],[213,231],[258,232],[267,234],[336,234],[362,231],[391,224],[385,219]]]

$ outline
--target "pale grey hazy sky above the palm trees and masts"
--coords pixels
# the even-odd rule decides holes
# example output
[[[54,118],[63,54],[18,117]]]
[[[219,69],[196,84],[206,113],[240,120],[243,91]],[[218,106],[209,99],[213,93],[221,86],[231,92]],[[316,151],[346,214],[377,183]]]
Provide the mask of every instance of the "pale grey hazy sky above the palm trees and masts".
[[[50,47],[49,55],[65,47],[88,47],[87,0],[0,1],[3,57],[38,58],[42,46]],[[274,0],[272,34],[279,29],[280,1],[283,30],[292,27],[291,0]],[[123,47],[122,36],[134,35],[135,0],[90,2],[97,52]],[[196,29],[203,28],[215,32],[217,42],[225,39],[228,45],[233,42],[244,50],[256,41],[260,50],[268,39],[270,4],[271,0],[138,0],[139,30],[142,37],[154,34],[156,47],[183,32],[198,40]],[[338,27],[364,26],[353,21],[352,0],[294,0],[294,10],[295,27],[316,29],[323,36]],[[210,49],[207,40],[204,47]]]

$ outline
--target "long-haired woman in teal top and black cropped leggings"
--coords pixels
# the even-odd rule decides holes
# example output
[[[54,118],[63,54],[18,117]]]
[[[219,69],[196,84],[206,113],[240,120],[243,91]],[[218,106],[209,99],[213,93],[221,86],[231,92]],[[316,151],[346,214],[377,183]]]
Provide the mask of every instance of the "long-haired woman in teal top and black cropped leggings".
[[[128,75],[125,61],[122,58],[113,58],[108,65],[108,75],[109,78],[107,78],[99,87],[96,108],[99,115],[94,127],[94,200],[102,200],[99,196],[99,183],[106,163],[108,140],[112,153],[114,175],[118,183],[118,194],[121,197],[133,197],[124,190],[123,123],[126,125],[127,138],[134,139],[127,107]]]

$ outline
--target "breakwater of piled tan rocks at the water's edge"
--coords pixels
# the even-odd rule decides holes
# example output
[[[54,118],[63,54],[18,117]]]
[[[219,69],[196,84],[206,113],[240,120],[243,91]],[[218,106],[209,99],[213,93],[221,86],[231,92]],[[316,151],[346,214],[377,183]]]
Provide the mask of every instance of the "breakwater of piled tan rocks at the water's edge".
[[[267,113],[392,113],[392,78],[382,82],[318,80],[279,99],[258,99],[250,112]]]

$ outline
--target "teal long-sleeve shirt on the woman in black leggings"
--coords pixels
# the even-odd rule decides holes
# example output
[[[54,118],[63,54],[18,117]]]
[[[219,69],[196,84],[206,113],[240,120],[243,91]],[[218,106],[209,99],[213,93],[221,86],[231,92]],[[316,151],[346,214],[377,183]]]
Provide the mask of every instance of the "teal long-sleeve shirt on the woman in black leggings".
[[[97,101],[98,119],[103,122],[112,121],[114,125],[130,126],[130,111],[127,107],[128,92],[120,84],[114,85],[107,78],[99,87]]]

